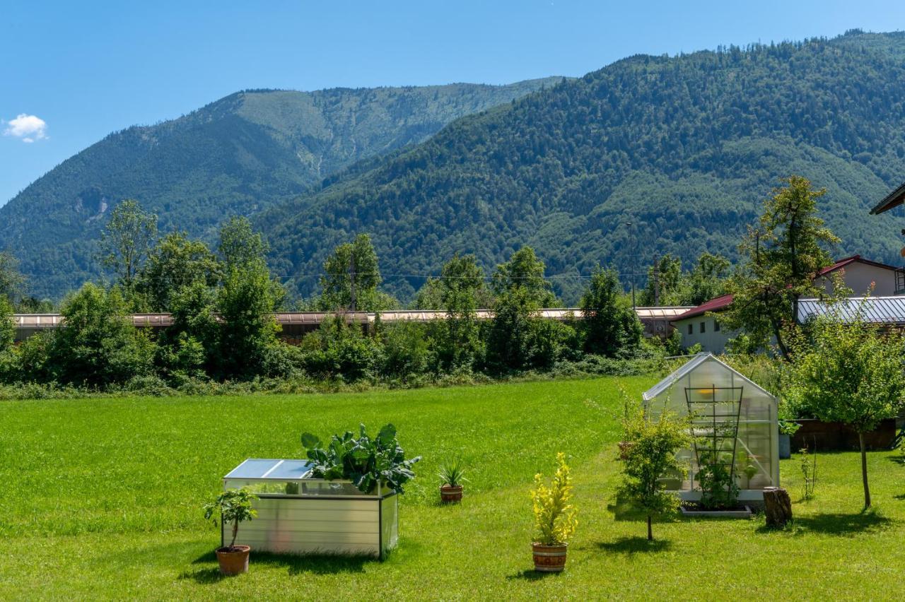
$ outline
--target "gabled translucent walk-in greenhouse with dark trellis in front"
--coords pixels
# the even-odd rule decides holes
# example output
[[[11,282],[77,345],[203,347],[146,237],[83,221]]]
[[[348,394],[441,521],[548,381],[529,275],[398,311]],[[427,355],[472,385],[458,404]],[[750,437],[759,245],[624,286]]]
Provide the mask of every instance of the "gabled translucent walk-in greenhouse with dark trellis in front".
[[[763,500],[763,489],[779,486],[777,400],[767,390],[710,353],[699,353],[643,394],[644,413],[664,410],[691,416],[690,448],[677,455],[684,475],[664,475],[666,488],[687,501],[700,499],[695,475],[714,462],[738,484],[739,502]]]

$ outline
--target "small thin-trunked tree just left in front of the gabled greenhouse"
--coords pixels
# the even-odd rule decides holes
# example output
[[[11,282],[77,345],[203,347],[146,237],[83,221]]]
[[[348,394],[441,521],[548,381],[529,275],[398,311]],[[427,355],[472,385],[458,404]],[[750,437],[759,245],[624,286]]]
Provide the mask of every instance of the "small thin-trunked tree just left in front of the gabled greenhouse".
[[[665,411],[656,419],[645,417],[639,410],[624,419],[623,428],[623,440],[632,445],[624,452],[619,491],[647,514],[647,540],[653,541],[653,517],[679,507],[679,498],[664,491],[660,479],[682,471],[676,452],[691,445],[688,421]]]

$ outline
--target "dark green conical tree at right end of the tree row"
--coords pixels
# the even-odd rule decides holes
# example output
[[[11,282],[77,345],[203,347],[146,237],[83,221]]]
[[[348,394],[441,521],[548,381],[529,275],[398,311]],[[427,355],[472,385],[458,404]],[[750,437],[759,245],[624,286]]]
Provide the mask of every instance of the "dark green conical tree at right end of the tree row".
[[[581,296],[581,312],[587,353],[614,357],[620,352],[632,353],[641,345],[643,326],[613,269],[595,268]]]

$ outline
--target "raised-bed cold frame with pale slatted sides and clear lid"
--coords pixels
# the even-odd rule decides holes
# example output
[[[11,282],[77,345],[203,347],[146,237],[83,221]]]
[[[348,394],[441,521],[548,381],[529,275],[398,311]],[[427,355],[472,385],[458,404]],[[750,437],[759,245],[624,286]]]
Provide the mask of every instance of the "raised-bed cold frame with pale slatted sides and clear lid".
[[[395,547],[398,496],[373,494],[351,481],[310,478],[307,460],[250,458],[226,476],[224,489],[257,494],[254,520],[242,522],[237,544],[295,554],[350,554],[383,558]]]

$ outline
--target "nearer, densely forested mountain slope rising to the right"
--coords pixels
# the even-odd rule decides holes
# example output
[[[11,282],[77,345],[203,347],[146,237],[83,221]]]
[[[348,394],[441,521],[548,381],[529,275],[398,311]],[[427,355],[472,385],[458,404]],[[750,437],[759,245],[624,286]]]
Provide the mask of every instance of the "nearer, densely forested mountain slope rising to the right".
[[[828,189],[834,253],[895,260],[905,223],[867,212],[905,179],[905,34],[633,56],[455,121],[258,224],[303,294],[330,249],[368,232],[396,295],[457,251],[491,267],[529,244],[574,302],[597,262],[627,274],[656,254],[734,256],[789,174]]]

